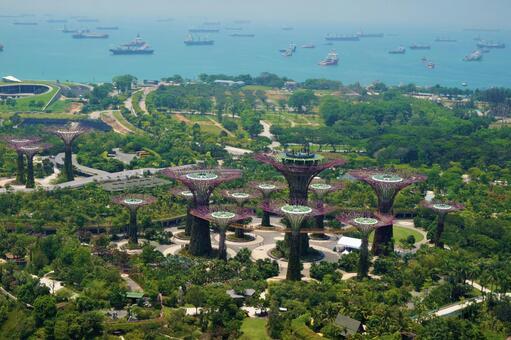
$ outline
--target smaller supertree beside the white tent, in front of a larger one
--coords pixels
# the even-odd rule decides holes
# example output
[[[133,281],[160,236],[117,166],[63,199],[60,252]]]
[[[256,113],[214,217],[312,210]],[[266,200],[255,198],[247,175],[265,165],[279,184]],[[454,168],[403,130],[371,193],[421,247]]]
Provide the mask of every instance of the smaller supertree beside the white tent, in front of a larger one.
[[[362,234],[357,277],[359,279],[367,277],[369,273],[369,234],[373,230],[392,224],[392,216],[371,212],[351,212],[337,216],[337,220],[357,228]]]

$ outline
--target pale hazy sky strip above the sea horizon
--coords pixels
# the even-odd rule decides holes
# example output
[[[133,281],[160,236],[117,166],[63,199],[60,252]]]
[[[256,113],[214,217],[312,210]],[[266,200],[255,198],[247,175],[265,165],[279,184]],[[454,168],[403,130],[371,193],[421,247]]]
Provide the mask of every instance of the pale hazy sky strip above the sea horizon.
[[[511,28],[511,0],[0,0],[0,14]]]

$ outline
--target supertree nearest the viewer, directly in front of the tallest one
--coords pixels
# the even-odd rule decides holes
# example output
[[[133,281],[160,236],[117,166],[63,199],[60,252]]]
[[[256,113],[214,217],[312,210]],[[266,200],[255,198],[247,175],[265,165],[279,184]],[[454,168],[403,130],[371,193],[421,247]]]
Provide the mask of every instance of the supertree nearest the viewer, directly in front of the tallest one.
[[[289,203],[269,203],[263,205],[263,209],[273,214],[283,216],[287,219],[290,229],[286,230],[291,234],[289,242],[289,258],[286,279],[291,281],[300,281],[301,263],[300,263],[300,235],[306,230],[302,230],[303,221],[323,213],[314,207],[307,205],[305,201],[290,201]]]

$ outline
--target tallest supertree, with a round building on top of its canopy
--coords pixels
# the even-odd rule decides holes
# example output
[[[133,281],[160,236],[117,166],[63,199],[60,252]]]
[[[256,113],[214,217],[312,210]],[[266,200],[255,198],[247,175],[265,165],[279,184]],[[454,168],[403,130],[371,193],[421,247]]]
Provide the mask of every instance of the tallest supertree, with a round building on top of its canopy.
[[[326,160],[323,156],[310,152],[308,146],[301,152],[259,153],[254,158],[273,166],[284,176],[289,186],[290,201],[307,201],[309,185],[314,177],[326,169],[346,163],[344,159]],[[307,234],[301,236],[301,242],[300,251],[303,255],[309,251]]]

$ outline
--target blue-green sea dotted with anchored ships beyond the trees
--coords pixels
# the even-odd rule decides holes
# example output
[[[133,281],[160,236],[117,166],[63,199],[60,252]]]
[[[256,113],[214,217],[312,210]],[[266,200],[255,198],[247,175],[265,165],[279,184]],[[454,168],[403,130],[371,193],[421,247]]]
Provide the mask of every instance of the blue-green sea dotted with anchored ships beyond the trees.
[[[64,24],[47,23],[44,17],[28,18],[37,26],[16,26],[20,19],[0,18],[0,75],[20,79],[72,80],[80,82],[109,81],[112,76],[130,73],[139,79],[160,79],[180,74],[195,78],[200,73],[230,75],[273,72],[297,81],[307,78],[328,78],[345,84],[369,84],[383,81],[398,85],[461,86],[470,88],[492,86],[511,87],[511,32],[473,32],[462,29],[440,30],[409,27],[364,27],[365,32],[385,33],[384,38],[363,38],[359,42],[334,42],[327,46],[328,33],[353,34],[360,27],[348,25],[317,25],[296,23],[291,31],[281,29],[282,23],[236,25],[225,22],[220,33],[210,33],[213,46],[185,46],[188,28],[198,27],[199,21],[175,20],[158,22],[150,19],[102,20],[99,23],[79,23],[69,19],[68,29],[96,26],[119,26],[117,31],[105,31],[109,39],[76,40],[60,30]],[[255,38],[234,38],[223,27],[242,26],[241,33],[253,33]],[[131,41],[138,33],[154,49],[154,55],[113,56],[109,48]],[[455,43],[435,42],[436,37],[457,39]],[[464,62],[463,57],[475,47],[475,37],[507,44],[505,49],[493,49],[482,62]],[[298,45],[292,57],[283,57],[279,49],[290,43]],[[429,44],[431,50],[408,49],[413,43]],[[314,44],[315,49],[300,48]],[[407,47],[405,55],[390,55],[398,46]],[[318,62],[330,50],[336,50],[339,65],[321,67]],[[428,69],[421,58],[435,63]]]

